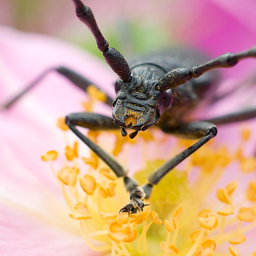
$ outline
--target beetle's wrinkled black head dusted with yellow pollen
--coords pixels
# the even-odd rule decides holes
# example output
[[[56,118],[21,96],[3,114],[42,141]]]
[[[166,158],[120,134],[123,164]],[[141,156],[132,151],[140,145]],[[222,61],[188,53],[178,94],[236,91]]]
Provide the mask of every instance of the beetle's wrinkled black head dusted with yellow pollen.
[[[138,132],[156,124],[164,107],[170,104],[171,90],[161,92],[158,82],[144,81],[138,74],[132,74],[128,82],[120,78],[115,82],[117,95],[113,102],[112,116],[115,124],[123,128],[123,136],[127,135],[124,128],[129,127]],[[137,132],[130,134],[130,138],[134,138]]]

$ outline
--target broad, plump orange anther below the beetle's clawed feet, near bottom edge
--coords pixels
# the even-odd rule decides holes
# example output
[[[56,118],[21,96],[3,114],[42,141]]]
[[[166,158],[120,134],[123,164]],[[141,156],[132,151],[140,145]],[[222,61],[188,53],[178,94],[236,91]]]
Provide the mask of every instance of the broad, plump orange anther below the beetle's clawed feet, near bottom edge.
[[[108,235],[116,242],[132,242],[137,238],[138,231],[134,225],[124,225],[121,223],[110,223]]]

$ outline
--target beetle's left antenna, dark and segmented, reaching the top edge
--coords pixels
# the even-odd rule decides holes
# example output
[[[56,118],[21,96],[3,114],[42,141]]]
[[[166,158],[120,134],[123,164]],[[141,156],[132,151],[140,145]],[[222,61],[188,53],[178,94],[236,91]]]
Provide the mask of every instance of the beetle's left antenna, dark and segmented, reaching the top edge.
[[[90,32],[92,32],[92,35],[96,40],[97,47],[102,51],[106,63],[123,81],[129,81],[131,77],[131,70],[127,61],[118,50],[111,47],[109,48],[109,43],[100,32],[92,10],[90,10],[88,6],[83,5],[80,0],[72,1],[76,8],[77,17],[90,29]]]

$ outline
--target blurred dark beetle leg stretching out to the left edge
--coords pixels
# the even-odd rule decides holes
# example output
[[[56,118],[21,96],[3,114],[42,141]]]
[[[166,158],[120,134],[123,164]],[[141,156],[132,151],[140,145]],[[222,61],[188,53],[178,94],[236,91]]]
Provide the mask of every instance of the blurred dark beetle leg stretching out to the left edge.
[[[86,92],[89,85],[92,85],[93,83],[90,82],[88,79],[84,78],[82,75],[78,74],[77,72],[60,66],[55,68],[49,68],[42,72],[38,77],[36,77],[29,85],[27,85],[24,89],[21,90],[17,95],[12,97],[10,100],[8,100],[6,103],[3,104],[4,109],[7,109],[12,104],[14,104],[19,98],[21,98],[25,93],[30,91],[32,88],[34,88],[40,81],[42,81],[46,75],[48,75],[51,71],[57,71],[59,74],[63,75],[65,78],[70,80],[75,86]],[[94,85],[95,86],[95,85]],[[95,86],[98,90],[100,90],[97,86]],[[112,106],[113,99],[106,95],[105,103],[109,106]]]

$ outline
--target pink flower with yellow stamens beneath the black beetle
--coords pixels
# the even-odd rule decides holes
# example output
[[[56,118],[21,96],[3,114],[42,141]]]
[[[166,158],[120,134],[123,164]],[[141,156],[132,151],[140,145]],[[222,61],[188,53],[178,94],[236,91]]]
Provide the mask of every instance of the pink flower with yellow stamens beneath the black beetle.
[[[213,5],[214,2],[207,1],[207,3]],[[220,6],[216,8],[220,8]],[[242,32],[245,33],[245,31]],[[249,34],[252,35],[253,31],[250,32]],[[1,102],[13,94],[16,88],[23,86],[20,81],[27,83],[36,74],[48,68],[49,63],[51,66],[59,64],[72,66],[96,84],[105,85],[109,93],[113,95],[109,85],[115,78],[114,74],[89,54],[42,35],[24,35],[3,27],[0,33],[1,70],[3,72],[0,79],[1,84],[8,85],[1,87]],[[244,34],[243,37],[235,35],[235,38],[238,42],[243,40],[248,44],[250,42],[250,37],[248,39]],[[246,42],[243,43],[246,44]],[[201,44],[203,45],[203,43]],[[214,44],[210,44],[209,47],[214,47]],[[245,67],[248,67],[248,64],[245,64]],[[100,76],[98,75],[99,71]],[[245,71],[246,68],[241,68],[238,78],[245,74]],[[227,72],[226,77],[231,79],[231,71]],[[65,93],[63,93],[64,91]],[[88,100],[86,96],[85,98]],[[122,250],[126,254],[125,248],[130,253],[140,251],[141,254],[146,249],[153,254],[177,253],[178,251],[190,253],[190,255],[192,253],[210,255],[213,251],[214,253],[230,252],[231,255],[239,255],[238,252],[242,255],[253,253],[255,250],[253,247],[255,239],[255,223],[253,222],[255,173],[252,171],[255,170],[255,166],[253,166],[255,158],[249,157],[252,155],[253,146],[255,146],[253,131],[250,134],[240,125],[220,127],[216,139],[210,145],[205,145],[202,150],[163,179],[163,184],[154,188],[155,191],[150,198],[150,208],[145,208],[143,214],[133,216],[131,214],[126,222],[127,214],[118,215],[118,210],[128,200],[122,181],[116,181],[111,171],[97,166],[95,163],[97,158],[91,159],[89,150],[84,145],[79,143],[78,156],[85,157],[85,159],[75,159],[77,164],[79,163],[79,167],[82,166],[79,168],[79,173],[78,167],[73,166],[74,160],[67,160],[70,168],[65,165],[64,148],[67,145],[65,145],[62,132],[55,127],[56,119],[70,112],[81,111],[83,100],[84,97],[79,90],[70,87],[65,79],[51,74],[34,92],[27,95],[15,107],[1,111],[0,233],[3,234],[1,237],[2,253],[11,255],[84,255],[86,252],[88,255],[94,254],[95,252],[89,249],[91,245],[88,241],[86,243],[81,236],[79,222],[82,219],[82,223],[86,225],[87,221],[95,221],[93,220],[95,216],[99,223],[94,228],[100,228],[94,231],[97,233],[86,234],[90,234],[94,238],[90,240],[92,245],[107,246],[108,253],[112,246],[111,241],[114,241],[113,250]],[[233,104],[230,105],[234,107]],[[95,109],[102,113],[109,113],[110,110],[100,108],[100,104],[97,103]],[[211,109],[211,114],[221,113],[217,107],[214,107],[214,111]],[[248,122],[248,125],[249,128],[252,128],[254,122]],[[241,130],[243,131],[242,135]],[[156,133],[159,136],[156,136]],[[150,136],[149,133],[149,137],[144,139],[136,138],[138,145],[130,145],[125,141],[121,151],[120,144],[113,143],[115,145],[114,154],[124,166],[129,167],[131,173],[135,173],[139,169],[142,170],[135,175],[140,182],[143,182],[143,177],[147,172],[152,172],[154,167],[163,162],[163,159],[170,157],[171,152],[175,154],[188,144],[188,142],[169,138],[169,136],[161,134],[160,131],[152,130],[151,135],[153,136]],[[107,136],[100,134],[98,137],[99,140],[102,140],[99,142],[100,145],[107,147],[109,144],[104,140],[108,142],[107,139],[110,138],[113,142],[115,138],[120,139],[120,134],[107,134]],[[66,150],[68,157],[76,151],[72,141],[74,141],[74,136],[69,133],[69,147]],[[157,150],[154,143],[157,144]],[[139,154],[138,147],[143,147],[143,145],[146,149]],[[159,145],[162,150],[159,150]],[[170,148],[170,145],[173,146]],[[113,210],[107,208],[109,209],[107,211],[104,208],[103,214],[99,216],[92,213],[91,205],[95,204],[93,195],[88,195],[91,203],[89,206],[85,203],[83,205],[83,202],[74,196],[72,200],[77,201],[70,205],[72,210],[69,210],[65,205],[62,191],[57,186],[58,182],[53,178],[54,175],[49,171],[47,164],[40,160],[40,156],[52,148],[59,154],[54,163],[54,173],[58,174],[57,181],[61,182],[61,188],[64,187],[65,192],[67,192],[67,186],[70,186],[71,196],[73,196],[72,192],[76,196],[75,191],[72,190],[72,185],[76,184],[79,189],[81,188],[81,193],[86,193],[83,190],[83,184],[89,183],[89,193],[101,196],[102,202],[99,205],[109,202],[104,200],[110,200],[114,193],[120,196],[121,202],[117,201],[116,204],[111,205]],[[51,152],[50,156],[52,155],[56,156],[56,153]],[[46,156],[43,158],[47,158]],[[150,159],[152,161],[149,161]],[[158,159],[162,160],[158,161]],[[89,173],[86,173],[88,164],[90,170]],[[90,175],[94,169],[97,170],[95,173],[98,177],[106,178],[107,186],[104,186],[104,182],[100,184],[99,181],[96,181],[96,177]],[[80,176],[77,177],[77,175]],[[90,178],[85,175],[90,175]],[[112,180],[113,178],[114,180]],[[88,186],[86,186],[87,188]],[[68,198],[65,200],[69,202]],[[180,204],[182,204],[182,211]],[[107,203],[107,206],[109,205]],[[109,211],[116,212],[117,216],[106,214]],[[234,213],[232,213],[233,211]],[[231,218],[228,217],[228,214]],[[160,224],[159,218],[163,221],[162,224]],[[140,221],[143,223],[138,224]],[[241,227],[238,225],[240,222],[242,223]],[[102,223],[104,224],[102,225]],[[136,223],[136,229],[132,223]],[[149,224],[151,224],[150,228]],[[232,231],[237,231],[237,236],[234,236]],[[138,240],[134,245],[136,239],[135,242],[131,241],[136,237],[136,232],[138,232]],[[85,236],[84,233],[83,235]],[[93,235],[100,235],[100,241]],[[245,237],[246,241],[244,242]],[[120,238],[122,241],[118,240]],[[209,240],[207,240],[208,238]],[[206,241],[202,243],[204,239]],[[122,242],[125,243],[125,247]],[[237,245],[238,243],[241,245]],[[121,246],[121,249],[118,249],[118,245]]]

